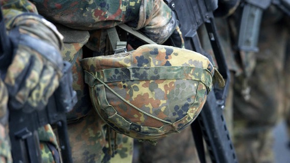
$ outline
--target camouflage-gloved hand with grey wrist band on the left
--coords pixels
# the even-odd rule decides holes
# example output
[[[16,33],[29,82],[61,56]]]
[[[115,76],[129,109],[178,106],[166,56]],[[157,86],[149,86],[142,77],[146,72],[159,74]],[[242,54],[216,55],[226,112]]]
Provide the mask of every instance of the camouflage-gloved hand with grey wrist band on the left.
[[[55,26],[36,14],[21,14],[10,25],[13,60],[5,84],[9,109],[32,112],[43,108],[62,76],[62,35]]]

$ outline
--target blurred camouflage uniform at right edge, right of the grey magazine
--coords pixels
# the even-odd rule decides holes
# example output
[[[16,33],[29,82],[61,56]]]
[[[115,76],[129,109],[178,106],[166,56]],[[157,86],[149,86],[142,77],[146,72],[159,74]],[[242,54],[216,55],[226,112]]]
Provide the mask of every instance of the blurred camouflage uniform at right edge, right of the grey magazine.
[[[247,79],[235,78],[234,146],[239,162],[275,162],[272,129],[281,118],[285,100],[283,75],[288,29],[274,6],[264,11],[255,54],[255,67]]]

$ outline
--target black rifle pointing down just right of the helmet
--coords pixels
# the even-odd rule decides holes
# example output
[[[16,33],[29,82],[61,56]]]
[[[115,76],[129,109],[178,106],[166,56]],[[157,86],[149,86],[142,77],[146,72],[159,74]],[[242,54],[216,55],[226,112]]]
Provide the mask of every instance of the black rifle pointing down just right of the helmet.
[[[202,139],[204,138],[212,162],[237,162],[234,147],[223,116],[223,108],[227,97],[230,78],[224,53],[219,42],[218,34],[216,33],[212,13],[218,7],[218,1],[166,0],[165,3],[172,8],[179,20],[185,48],[203,54],[213,63],[211,56],[202,48],[197,32],[200,26],[205,24],[219,72],[226,82],[224,88],[214,85],[213,91],[209,92],[207,101],[200,115],[197,117],[197,120],[191,124],[197,150],[199,152],[199,158],[201,162],[205,162]]]

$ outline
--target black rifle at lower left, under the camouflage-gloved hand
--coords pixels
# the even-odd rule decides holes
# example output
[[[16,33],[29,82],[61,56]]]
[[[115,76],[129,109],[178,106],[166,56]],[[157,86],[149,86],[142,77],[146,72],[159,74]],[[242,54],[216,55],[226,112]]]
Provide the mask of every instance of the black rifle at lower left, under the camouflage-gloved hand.
[[[0,10],[0,73],[5,72],[12,60],[13,43],[6,34],[2,11]],[[46,124],[56,124],[63,162],[72,162],[67,133],[66,113],[77,102],[76,91],[71,87],[71,64],[64,61],[63,76],[54,94],[45,108],[32,113],[9,109],[9,135],[13,162],[41,162],[41,153],[37,129]]]

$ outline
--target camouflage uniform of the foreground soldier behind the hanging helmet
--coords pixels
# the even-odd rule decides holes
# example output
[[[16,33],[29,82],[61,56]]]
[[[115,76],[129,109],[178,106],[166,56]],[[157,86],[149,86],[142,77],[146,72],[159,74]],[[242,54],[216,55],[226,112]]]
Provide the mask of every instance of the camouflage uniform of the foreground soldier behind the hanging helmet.
[[[64,35],[61,53],[64,60],[74,64],[73,87],[79,99],[74,110],[67,114],[74,162],[130,162],[133,139],[122,134],[112,134],[112,138],[106,137],[110,130],[92,109],[80,60],[105,55],[106,48],[108,49],[107,34],[106,30],[102,29],[120,23],[127,23],[134,30],[142,31],[157,43],[164,42],[176,26],[171,9],[160,0],[30,2],[6,0],[2,1],[2,4],[6,4],[6,8],[20,8],[23,12],[39,13],[53,22]],[[42,131],[48,131],[47,129],[50,128],[46,126]],[[110,141],[115,142],[117,147],[112,154],[108,153],[111,149],[108,147]],[[44,155],[43,153],[42,156]]]

